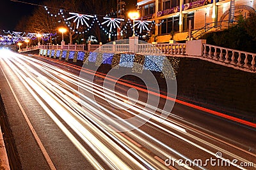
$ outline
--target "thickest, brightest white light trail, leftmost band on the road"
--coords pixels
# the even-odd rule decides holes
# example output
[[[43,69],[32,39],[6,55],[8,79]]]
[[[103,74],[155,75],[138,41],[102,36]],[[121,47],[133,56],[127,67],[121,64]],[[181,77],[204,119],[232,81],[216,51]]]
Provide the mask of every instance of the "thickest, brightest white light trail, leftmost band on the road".
[[[11,63],[9,64],[11,65]],[[19,65],[17,64],[17,62],[15,64]],[[12,65],[12,68],[16,69],[14,65]],[[26,68],[29,69],[29,66],[27,66]],[[79,124],[79,122],[77,122],[77,120],[74,117],[71,117],[68,111],[60,105],[60,99],[54,96],[54,94],[51,94],[51,92],[49,92],[49,90],[43,87],[43,85],[38,85],[38,83],[35,83],[38,81],[35,80],[35,78],[33,78],[33,76],[31,76],[29,73],[26,73],[26,70],[23,71],[26,73],[27,76],[29,76],[29,78],[26,77],[24,74],[21,74],[20,72],[18,73],[18,71],[19,69],[16,69],[16,73],[20,74],[20,76],[22,76],[22,78],[26,80],[27,83],[31,85],[31,87],[33,87],[33,89],[36,90],[38,94],[40,94],[40,97],[47,101],[51,108],[54,111],[56,111],[56,113],[58,113],[58,115],[65,122],[67,122],[67,124],[80,136],[81,139],[83,139],[96,153],[98,153],[102,160],[105,160],[105,162],[108,164],[109,167],[111,167],[111,169],[131,169],[121,159],[119,159],[111,150],[109,150],[108,147],[101,143],[99,139],[95,138],[95,136],[93,136],[93,134],[90,133],[83,125]],[[51,94],[51,96],[49,96],[49,94]],[[103,136],[103,134],[100,135]],[[111,141],[106,136],[104,138],[106,138],[105,141]],[[122,153],[122,155],[125,154],[125,151],[118,147],[115,143],[112,142],[111,145],[113,145],[114,148],[121,150],[120,152]],[[106,155],[108,155],[108,157],[106,157]],[[138,164],[138,162],[136,162],[136,160],[132,159],[130,155],[126,154],[126,156],[129,157],[129,160],[131,160],[134,164],[140,165]]]

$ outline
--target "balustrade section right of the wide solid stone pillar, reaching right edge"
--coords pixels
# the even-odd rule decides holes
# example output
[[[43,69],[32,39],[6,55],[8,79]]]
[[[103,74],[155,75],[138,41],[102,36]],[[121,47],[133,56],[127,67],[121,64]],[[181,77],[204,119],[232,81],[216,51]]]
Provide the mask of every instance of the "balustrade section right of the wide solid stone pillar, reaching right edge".
[[[243,52],[221,46],[204,44],[203,57],[213,60],[220,60],[234,66],[246,67],[255,70],[256,53]]]

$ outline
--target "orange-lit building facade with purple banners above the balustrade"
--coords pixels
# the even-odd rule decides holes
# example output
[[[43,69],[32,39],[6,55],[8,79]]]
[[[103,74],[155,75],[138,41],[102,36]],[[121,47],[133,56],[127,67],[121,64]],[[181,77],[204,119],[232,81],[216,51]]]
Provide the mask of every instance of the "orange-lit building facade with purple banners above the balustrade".
[[[247,18],[250,13],[255,13],[256,1],[138,0],[137,6],[141,20],[155,21],[153,34],[157,42],[168,43],[172,39],[188,39],[189,32],[197,38],[202,32],[218,31],[236,24],[239,17]]]

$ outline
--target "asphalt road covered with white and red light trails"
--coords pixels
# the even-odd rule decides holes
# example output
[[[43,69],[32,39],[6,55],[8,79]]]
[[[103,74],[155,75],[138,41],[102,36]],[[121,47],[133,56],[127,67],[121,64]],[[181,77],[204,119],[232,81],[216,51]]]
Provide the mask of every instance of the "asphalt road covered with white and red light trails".
[[[172,97],[58,59],[1,52],[0,64],[22,169],[256,168],[255,127],[182,102],[165,118]]]

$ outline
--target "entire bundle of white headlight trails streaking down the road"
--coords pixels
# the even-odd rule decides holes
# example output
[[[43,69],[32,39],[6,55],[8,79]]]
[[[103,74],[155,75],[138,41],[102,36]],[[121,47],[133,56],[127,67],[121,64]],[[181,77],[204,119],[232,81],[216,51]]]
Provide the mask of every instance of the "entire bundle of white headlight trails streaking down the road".
[[[70,127],[72,127],[72,129],[77,134],[79,134],[81,139],[86,141],[88,145],[94,148],[95,152],[99,154],[99,156],[104,160],[104,162],[106,162],[106,164],[108,164],[108,166],[113,169],[118,169],[119,166],[116,167],[116,164],[118,164],[119,161],[123,162],[122,165],[126,166],[128,169],[129,169],[129,166],[127,166],[127,164],[130,164],[131,166],[131,163],[128,163],[128,162],[133,162],[133,164],[135,164],[137,167],[140,167],[141,169],[143,169],[143,166],[141,166],[140,162],[147,165],[147,167],[150,167],[150,169],[155,169],[159,167],[159,164],[154,162],[152,159],[148,159],[148,155],[145,154],[144,152],[141,152],[140,147],[136,147],[134,144],[129,142],[126,138],[122,137],[120,134],[118,134],[117,132],[113,131],[113,129],[111,129],[111,128],[118,127],[118,129],[125,130],[127,129],[127,126],[133,127],[134,125],[125,121],[123,121],[124,124],[120,124],[115,120],[109,118],[108,115],[111,115],[112,117],[115,117],[117,119],[122,119],[112,111],[105,108],[104,106],[84,96],[79,91],[77,91],[76,89],[68,85],[67,83],[64,83],[60,78],[63,78],[64,80],[68,81],[68,83],[70,83],[74,87],[78,86],[80,88],[83,88],[84,90],[86,90],[86,92],[90,92],[94,96],[97,96],[100,99],[108,103],[111,103],[113,106],[116,106],[126,111],[127,113],[130,113],[135,116],[136,116],[136,113],[143,113],[143,116],[145,116],[146,118],[149,117],[152,120],[159,122],[159,124],[156,124],[151,120],[147,120],[145,117],[142,117],[142,116],[137,115],[137,118],[140,120],[147,120],[147,124],[152,124],[157,129],[161,129],[161,131],[167,132],[172,136],[176,136],[177,138],[182,139],[187,143],[190,143],[191,145],[195,146],[196,148],[199,148],[200,150],[203,150],[204,152],[210,153],[211,155],[215,155],[215,152],[212,152],[192,142],[191,140],[180,136],[176,132],[166,129],[165,127],[163,127],[163,125],[182,133],[182,135],[185,135],[186,137],[193,138],[204,145],[211,146],[212,149],[221,151],[230,157],[235,157],[240,161],[246,161],[246,159],[243,159],[237,155],[234,155],[233,153],[226,152],[225,150],[223,150],[222,148],[216,145],[208,143],[200,138],[197,138],[196,136],[193,136],[192,134],[189,134],[186,131],[186,129],[190,130],[189,127],[186,127],[185,129],[184,126],[180,125],[179,122],[174,122],[170,119],[164,120],[163,117],[161,117],[161,115],[158,115],[155,113],[155,111],[152,111],[154,109],[157,109],[157,111],[162,111],[162,110],[159,110],[158,108],[149,106],[147,107],[147,109],[145,109],[142,106],[145,106],[146,104],[141,101],[138,102],[139,105],[125,103],[124,99],[127,98],[127,96],[124,96],[121,93],[115,92],[110,89],[102,90],[102,87],[100,87],[100,85],[98,85],[97,83],[93,83],[87,80],[81,80],[81,78],[79,78],[74,74],[58,69],[58,67],[54,67],[50,64],[46,64],[45,62],[42,62],[36,59],[31,59],[30,57],[16,55],[15,57],[8,57],[7,59],[4,59],[4,60],[6,61],[6,63],[12,66],[13,72],[17,74],[17,76],[20,78],[20,81],[22,80],[24,82],[26,81],[25,82],[26,87],[30,88],[30,90],[28,89],[29,92],[31,92],[32,91],[31,88],[33,88],[37,92],[37,94],[40,94],[40,96],[42,95],[41,97],[44,98],[44,101],[47,102],[51,106],[51,108],[53,108],[56,111],[56,113],[58,113],[58,115],[60,115],[60,117],[63,118],[63,120],[65,120],[65,122],[67,122],[67,124],[70,125]],[[43,76],[41,73],[38,73],[38,71],[30,67],[30,65],[26,64],[24,60],[29,64],[31,64],[31,66],[37,67],[40,71],[45,73],[52,80],[47,78],[47,76]],[[82,108],[77,103],[77,101],[80,101],[79,97],[77,96],[83,97],[84,100],[81,101],[81,104],[84,106],[85,109]],[[38,101],[38,99],[36,99],[36,101]],[[42,104],[42,101],[38,101],[38,103]],[[100,110],[97,108],[99,108]],[[129,108],[130,110],[128,110],[127,108]],[[45,108],[45,110],[47,109]],[[108,113],[108,115],[106,115],[105,113]],[[95,115],[97,115],[97,117],[95,117]],[[102,119],[99,119],[98,117]],[[91,122],[93,122],[93,124]],[[109,127],[109,123],[111,123],[110,125],[114,125],[114,127]],[[90,129],[90,131],[93,131],[93,134],[97,134],[97,136],[104,136],[102,137],[102,139],[104,139],[104,141],[106,141],[108,145],[103,144],[100,141],[99,143],[97,142],[96,144],[95,143],[92,144],[92,141],[94,140],[93,134],[90,133],[87,129]],[[106,131],[106,129],[108,131]],[[131,131],[128,132],[129,136],[132,136],[134,139],[136,139],[136,141],[140,141],[140,143],[143,143],[143,145],[149,146],[150,148],[152,148],[152,150],[156,150],[157,152],[161,153],[161,155],[168,157],[170,156],[170,153],[175,153],[175,155],[179,155],[179,157],[182,157],[182,159],[188,159],[181,153],[177,152],[176,150],[173,150],[173,148],[171,148],[168,145],[165,145],[164,143],[154,138],[153,136],[150,136],[146,132],[141,131],[140,129],[136,129],[136,131],[140,132],[140,134],[142,134],[146,138],[143,138],[142,136],[139,136],[138,134]],[[105,134],[108,134],[108,136],[106,136]],[[86,138],[85,136],[90,136],[90,139]],[[70,140],[71,139],[73,140],[73,137],[70,137]],[[151,143],[150,141],[147,141],[147,138],[152,139],[154,142],[157,143],[157,145],[155,145],[154,143]],[[125,151],[122,150],[122,148],[120,148],[118,145],[116,145],[116,143],[124,147]],[[126,146],[125,144],[128,145],[129,147]],[[165,150],[162,150],[161,148],[159,148],[158,145],[165,148]],[[79,147],[80,146],[77,146],[77,148]],[[118,150],[119,153],[122,153],[124,157],[122,158],[116,157],[117,151],[115,152],[111,151],[111,150],[114,150],[114,148],[115,149],[118,148],[116,150]],[[106,149],[106,151],[108,152],[99,152],[99,150],[101,151],[102,149],[103,150]],[[169,152],[166,152],[166,149]],[[80,152],[84,152],[84,150],[82,149],[80,150]],[[106,158],[105,156],[107,153],[111,153],[111,156],[109,156],[108,158]],[[84,157],[90,157],[90,155],[86,155],[87,153],[83,153],[83,154],[84,154]],[[132,156],[130,156],[129,154],[131,154]],[[136,159],[134,159],[133,157],[136,157]],[[95,162],[95,160],[93,160],[93,157],[91,157],[89,160],[92,162],[92,164],[95,164],[95,165],[99,164],[99,162],[97,161]],[[138,160],[140,160],[140,162],[138,162]],[[236,165],[233,164],[233,166],[236,166]],[[190,167],[187,166],[186,168],[189,169]],[[204,169],[203,167],[199,167],[199,168]],[[243,168],[240,168],[240,169],[243,169]]]

